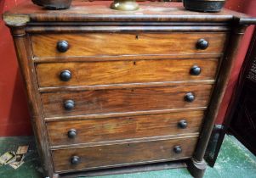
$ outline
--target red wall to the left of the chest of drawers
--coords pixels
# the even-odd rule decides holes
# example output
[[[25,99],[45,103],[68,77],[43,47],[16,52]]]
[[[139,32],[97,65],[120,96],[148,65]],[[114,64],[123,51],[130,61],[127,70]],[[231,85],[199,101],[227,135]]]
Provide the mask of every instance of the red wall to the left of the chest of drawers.
[[[24,0],[0,0],[1,14]],[[31,135],[25,90],[9,29],[0,21],[0,136]]]

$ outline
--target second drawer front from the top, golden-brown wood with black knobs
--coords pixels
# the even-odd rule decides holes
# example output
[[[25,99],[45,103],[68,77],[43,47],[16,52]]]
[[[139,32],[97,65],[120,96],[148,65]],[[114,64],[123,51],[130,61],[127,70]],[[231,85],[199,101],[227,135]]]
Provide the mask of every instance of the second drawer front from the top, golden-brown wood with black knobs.
[[[195,73],[196,66],[200,74]],[[48,63],[37,64],[36,69],[39,86],[44,87],[213,80],[217,66],[214,58]],[[66,72],[70,75],[67,80]]]

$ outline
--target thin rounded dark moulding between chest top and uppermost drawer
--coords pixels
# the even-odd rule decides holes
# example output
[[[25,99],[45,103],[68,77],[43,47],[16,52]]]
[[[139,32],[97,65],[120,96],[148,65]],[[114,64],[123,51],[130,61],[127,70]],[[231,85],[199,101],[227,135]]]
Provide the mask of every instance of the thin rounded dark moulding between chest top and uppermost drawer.
[[[56,29],[54,25],[58,25],[59,28]],[[84,25],[80,25],[79,27],[77,26],[72,26],[76,24],[65,24],[63,25],[62,23],[54,23],[54,25],[48,24],[48,26],[37,26],[37,23],[31,24],[31,26],[28,26],[26,28],[26,31],[28,33],[42,33],[42,32],[47,32],[47,33],[87,33],[87,32],[105,32],[105,31],[119,31],[119,32],[129,32],[129,31],[134,31],[134,32],[143,32],[143,31],[148,31],[148,32],[211,32],[211,31],[216,31],[216,32],[229,32],[230,28],[228,26],[223,26],[222,24],[216,24],[216,25],[208,25],[208,24],[203,24],[203,25],[198,25],[198,24],[189,24],[185,25],[183,24],[174,24],[174,23],[154,23],[154,22],[147,22],[147,23],[127,23],[127,25],[131,26],[122,26],[123,23],[84,23]],[[96,26],[92,26],[96,25]],[[111,26],[107,26],[111,25]],[[162,26],[159,26],[162,25]]]

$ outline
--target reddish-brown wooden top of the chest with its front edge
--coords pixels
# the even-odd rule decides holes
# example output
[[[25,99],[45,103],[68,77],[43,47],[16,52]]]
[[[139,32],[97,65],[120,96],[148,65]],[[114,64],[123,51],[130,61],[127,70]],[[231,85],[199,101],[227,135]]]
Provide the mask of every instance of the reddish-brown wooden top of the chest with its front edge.
[[[245,23],[249,22],[246,14],[223,9],[219,13],[199,13],[185,10],[182,3],[143,3],[139,5],[138,11],[125,12],[113,11],[110,9],[111,1],[94,1],[84,2],[76,0],[72,2],[71,8],[61,11],[50,11],[38,7],[31,2],[21,4],[17,8],[13,8],[5,15],[27,15],[31,22],[211,22],[214,23],[231,23],[234,19]],[[237,23],[239,23],[237,21]],[[253,21],[250,23],[252,24]]]

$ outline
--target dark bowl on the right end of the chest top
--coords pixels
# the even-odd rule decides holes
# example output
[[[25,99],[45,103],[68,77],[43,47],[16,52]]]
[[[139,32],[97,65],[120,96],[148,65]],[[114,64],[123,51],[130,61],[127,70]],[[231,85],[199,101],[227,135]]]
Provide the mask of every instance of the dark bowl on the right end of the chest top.
[[[188,10],[216,13],[223,8],[225,0],[183,0]]]

